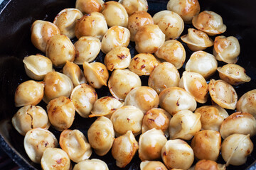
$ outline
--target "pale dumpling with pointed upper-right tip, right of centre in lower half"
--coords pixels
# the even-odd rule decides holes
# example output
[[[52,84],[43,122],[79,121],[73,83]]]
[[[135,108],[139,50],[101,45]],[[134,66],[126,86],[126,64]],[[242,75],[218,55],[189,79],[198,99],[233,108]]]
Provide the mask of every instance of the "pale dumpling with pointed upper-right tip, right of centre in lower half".
[[[201,130],[201,114],[188,110],[179,111],[170,120],[170,139],[191,140]]]

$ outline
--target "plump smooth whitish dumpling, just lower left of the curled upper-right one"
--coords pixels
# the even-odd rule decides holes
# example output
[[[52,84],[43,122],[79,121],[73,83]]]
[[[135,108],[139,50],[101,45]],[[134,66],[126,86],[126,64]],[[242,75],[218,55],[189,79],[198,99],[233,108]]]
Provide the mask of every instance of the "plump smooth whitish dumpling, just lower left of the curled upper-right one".
[[[201,74],[205,79],[213,75],[218,67],[218,62],[213,55],[208,52],[193,52],[186,63],[187,72],[196,72]]]

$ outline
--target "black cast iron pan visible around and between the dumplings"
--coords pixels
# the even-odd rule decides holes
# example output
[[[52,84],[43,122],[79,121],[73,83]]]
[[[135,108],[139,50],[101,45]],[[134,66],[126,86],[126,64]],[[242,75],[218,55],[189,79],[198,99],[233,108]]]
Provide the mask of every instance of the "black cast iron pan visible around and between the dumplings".
[[[153,16],[154,13],[165,10],[167,0],[148,0],[149,13]],[[256,59],[255,59],[255,40],[256,40],[256,23],[255,23],[255,1],[245,0],[199,0],[201,11],[215,11],[223,17],[224,23],[227,25],[227,31],[223,33],[225,36],[233,35],[238,38],[241,46],[241,53],[238,64],[244,67],[247,75],[252,80],[240,86],[236,86],[235,90],[238,97],[245,92],[256,89]],[[41,53],[31,44],[30,28],[33,21],[37,19],[53,21],[53,18],[63,8],[75,7],[75,0],[10,0],[4,1],[0,6],[0,145],[4,151],[9,154],[23,169],[41,169],[40,164],[34,164],[30,161],[23,147],[23,136],[12,127],[10,120],[18,111],[14,106],[14,93],[18,84],[28,80],[23,68],[23,57]],[[191,25],[186,25],[183,34],[186,33]],[[213,38],[214,39],[214,38]],[[178,39],[180,40],[180,39]],[[75,42],[76,40],[73,40]],[[186,61],[191,55],[191,51],[186,48]],[[129,45],[132,57],[137,54],[134,50],[134,43]],[[212,47],[206,51],[212,53]],[[102,62],[104,55],[100,52],[97,57],[97,62]],[[186,64],[186,63],[185,63]],[[185,65],[184,64],[184,65]],[[223,62],[218,62],[218,66],[222,66]],[[179,69],[183,72],[184,66]],[[147,77],[142,78],[142,85],[147,85]],[[219,79],[218,74],[213,76],[214,79]],[[110,95],[107,88],[97,90],[100,97]],[[46,104],[41,102],[39,105],[46,107]],[[210,105],[210,101],[206,103]],[[199,105],[200,106],[200,105]],[[233,113],[234,111],[228,111]],[[75,115],[75,121],[70,129],[78,129],[84,132],[87,136],[87,129],[90,127],[95,118],[81,118],[78,114]],[[60,132],[50,128],[57,138]],[[138,140],[138,138],[137,138]],[[188,141],[189,142],[189,141]],[[256,137],[252,137],[252,142],[256,144]],[[256,147],[256,146],[255,146]],[[107,163],[109,169],[119,169],[115,166],[115,160],[109,152],[105,157],[99,157],[92,154],[91,158],[102,159]],[[246,164],[242,166],[228,166],[227,169],[256,169],[256,149],[247,158]],[[220,157],[218,163],[225,164]],[[139,169],[140,160],[138,155],[135,155],[132,162],[125,169]],[[186,162],[184,162],[186,164]]]

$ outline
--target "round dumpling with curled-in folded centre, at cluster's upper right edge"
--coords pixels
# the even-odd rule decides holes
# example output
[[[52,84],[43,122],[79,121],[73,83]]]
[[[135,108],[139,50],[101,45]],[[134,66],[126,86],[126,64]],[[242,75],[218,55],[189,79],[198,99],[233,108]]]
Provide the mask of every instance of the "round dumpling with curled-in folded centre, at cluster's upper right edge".
[[[218,36],[214,40],[213,55],[218,61],[233,63],[238,62],[240,55],[240,44],[238,38],[230,36]]]

